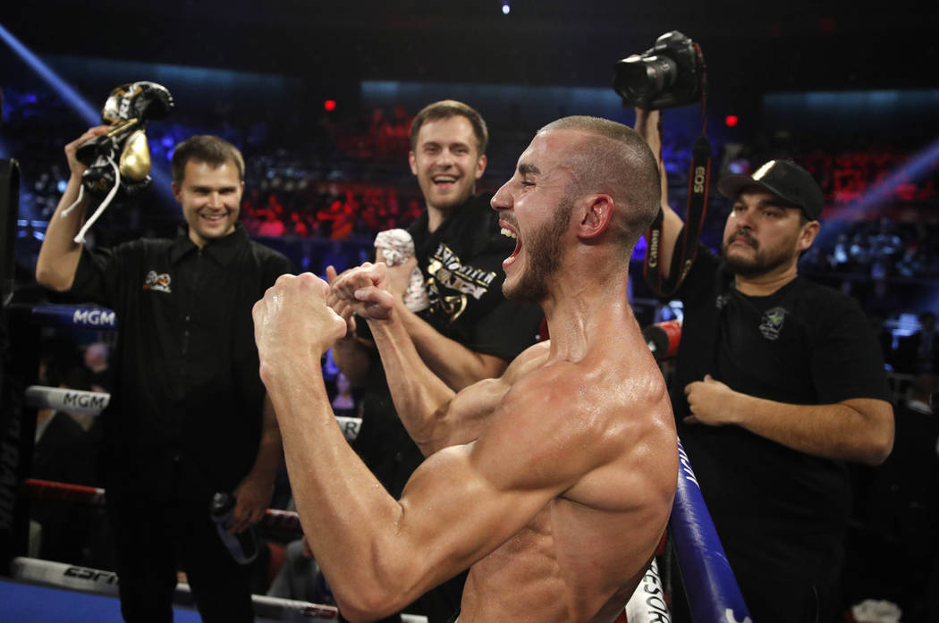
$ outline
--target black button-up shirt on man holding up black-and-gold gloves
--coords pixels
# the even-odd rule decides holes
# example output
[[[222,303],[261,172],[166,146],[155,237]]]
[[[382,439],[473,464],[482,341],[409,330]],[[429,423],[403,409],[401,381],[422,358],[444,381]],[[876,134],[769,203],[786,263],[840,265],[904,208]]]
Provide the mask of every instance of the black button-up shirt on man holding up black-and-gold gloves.
[[[203,496],[248,473],[265,393],[251,310],[286,272],[289,260],[240,224],[202,250],[183,232],[83,252],[71,296],[117,316],[109,492],[159,498],[177,473],[181,493]]]

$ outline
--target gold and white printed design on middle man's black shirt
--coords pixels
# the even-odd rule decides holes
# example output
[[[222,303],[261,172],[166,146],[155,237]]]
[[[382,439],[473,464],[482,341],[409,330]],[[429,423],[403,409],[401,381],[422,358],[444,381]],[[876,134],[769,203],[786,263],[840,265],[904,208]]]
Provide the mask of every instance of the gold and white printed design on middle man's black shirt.
[[[482,298],[497,277],[495,272],[464,266],[459,256],[443,243],[430,254],[427,273],[430,277],[425,286],[431,310],[443,312],[451,322],[466,310],[469,296]],[[459,294],[444,294],[442,288]]]

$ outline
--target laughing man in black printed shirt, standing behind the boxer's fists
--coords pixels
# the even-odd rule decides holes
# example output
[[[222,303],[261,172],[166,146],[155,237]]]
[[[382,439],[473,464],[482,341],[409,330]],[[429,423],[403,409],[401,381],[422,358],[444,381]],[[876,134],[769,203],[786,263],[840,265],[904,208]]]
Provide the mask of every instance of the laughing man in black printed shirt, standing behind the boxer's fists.
[[[451,99],[434,102],[414,117],[410,129],[411,173],[426,209],[408,229],[414,241],[427,307],[411,311],[404,287],[395,303],[424,363],[449,387],[498,377],[535,342],[543,314],[537,305],[502,296],[502,260],[516,248],[500,232],[491,193],[476,192],[485,171],[488,130],[474,109]],[[391,271],[408,275],[411,265]],[[398,280],[403,286],[407,280]],[[359,335],[336,342],[333,357],[354,384],[363,385],[362,432],[354,448],[390,494],[400,496],[423,462],[394,411],[388,382],[367,325]],[[431,591],[408,612],[444,623],[459,606],[465,574]]]

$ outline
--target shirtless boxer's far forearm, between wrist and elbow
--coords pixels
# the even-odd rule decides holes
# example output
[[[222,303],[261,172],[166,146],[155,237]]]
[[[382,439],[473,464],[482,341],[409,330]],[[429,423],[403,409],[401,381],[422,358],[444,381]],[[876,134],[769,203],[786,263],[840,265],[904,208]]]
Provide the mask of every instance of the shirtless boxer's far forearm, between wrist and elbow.
[[[369,327],[398,417],[424,456],[430,456],[446,446],[439,425],[456,392],[424,363],[401,322],[399,307],[395,305],[388,320],[369,320]]]

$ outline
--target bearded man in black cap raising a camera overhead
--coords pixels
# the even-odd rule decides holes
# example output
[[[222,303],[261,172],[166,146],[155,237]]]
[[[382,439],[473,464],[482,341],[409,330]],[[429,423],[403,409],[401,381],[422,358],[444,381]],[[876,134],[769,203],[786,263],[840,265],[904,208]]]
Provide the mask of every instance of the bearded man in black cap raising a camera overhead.
[[[657,116],[637,111],[637,130],[660,154]],[[669,275],[684,223],[666,188],[658,259]],[[799,277],[824,206],[811,175],[770,160],[717,189],[733,202],[720,257],[700,246],[675,293],[679,437],[753,620],[834,620],[844,462],[882,463],[893,444],[883,359],[854,299]]]

